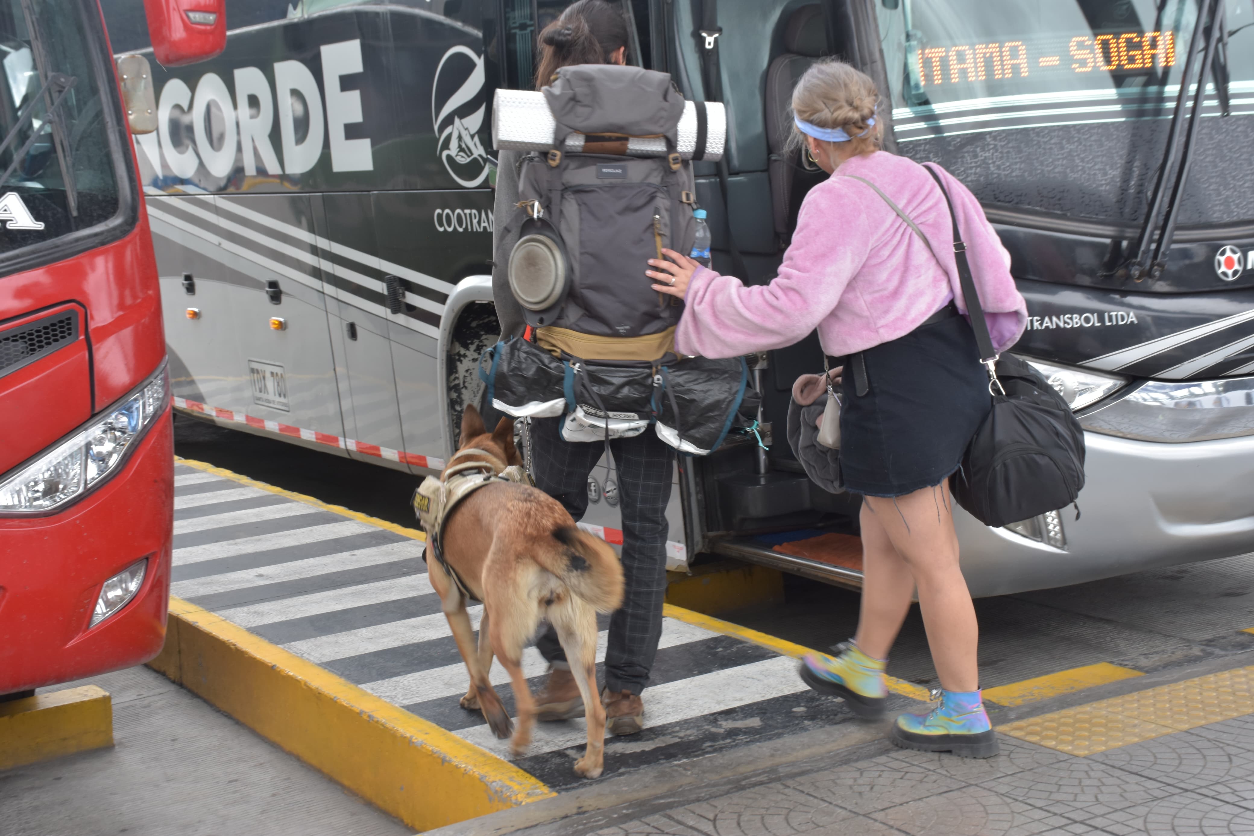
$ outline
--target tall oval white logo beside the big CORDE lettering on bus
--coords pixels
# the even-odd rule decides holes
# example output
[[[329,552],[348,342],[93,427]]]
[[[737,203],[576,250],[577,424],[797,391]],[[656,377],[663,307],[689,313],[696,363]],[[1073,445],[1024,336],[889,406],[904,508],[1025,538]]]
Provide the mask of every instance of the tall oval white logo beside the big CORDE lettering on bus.
[[[466,188],[488,179],[488,154],[478,137],[488,107],[484,83],[483,58],[461,45],[444,53],[431,83],[436,153],[449,175]]]

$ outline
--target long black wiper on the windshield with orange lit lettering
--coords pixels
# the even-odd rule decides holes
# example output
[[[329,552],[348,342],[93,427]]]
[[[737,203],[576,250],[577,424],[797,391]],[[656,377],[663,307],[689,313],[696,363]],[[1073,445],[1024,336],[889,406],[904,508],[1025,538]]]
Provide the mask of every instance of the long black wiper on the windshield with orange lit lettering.
[[[1210,26],[1204,24],[1210,19]],[[1193,98],[1193,109],[1189,113],[1188,128],[1184,124],[1184,110],[1189,102],[1189,88],[1193,86],[1194,68],[1198,65],[1198,44],[1203,31],[1206,31],[1205,51],[1201,55],[1201,69],[1198,76],[1198,88]],[[1223,41],[1225,46],[1223,58],[1216,53],[1216,45]],[[1204,0],[1199,4],[1198,23],[1193,28],[1189,39],[1189,55],[1184,63],[1184,73],[1180,75],[1180,93],[1176,97],[1175,112],[1171,114],[1171,130],[1167,134],[1167,145],[1162,154],[1162,163],[1159,167],[1159,175],[1154,183],[1154,192],[1150,197],[1149,212],[1145,224],[1136,241],[1135,256],[1120,269],[1134,281],[1145,278],[1156,280],[1166,269],[1166,253],[1171,248],[1171,239],[1175,237],[1178,209],[1184,184],[1189,179],[1189,163],[1193,152],[1193,139],[1198,133],[1198,118],[1206,99],[1206,70],[1210,69],[1215,76],[1215,89],[1219,93],[1219,103],[1223,114],[1229,115],[1228,98],[1228,51],[1226,31],[1224,23],[1224,0]],[[1175,169],[1175,182],[1171,184],[1171,194],[1166,196],[1166,183]]]

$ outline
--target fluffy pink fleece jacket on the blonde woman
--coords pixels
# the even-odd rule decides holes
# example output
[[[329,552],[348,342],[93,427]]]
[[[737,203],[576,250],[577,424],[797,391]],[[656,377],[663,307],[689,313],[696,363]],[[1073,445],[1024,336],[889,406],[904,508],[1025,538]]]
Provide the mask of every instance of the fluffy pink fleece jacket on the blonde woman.
[[[976,197],[937,169],[958,214],[993,346],[1002,351],[1027,322],[1009,253]],[[893,198],[943,266],[869,185],[844,174],[870,180]],[[746,287],[732,276],[697,269],[675,342],[687,355],[735,357],[790,346],[818,327],[824,351],[839,357],[905,336],[951,298],[967,312],[944,196],[914,160],[877,152],[848,160],[810,189],[770,285]]]

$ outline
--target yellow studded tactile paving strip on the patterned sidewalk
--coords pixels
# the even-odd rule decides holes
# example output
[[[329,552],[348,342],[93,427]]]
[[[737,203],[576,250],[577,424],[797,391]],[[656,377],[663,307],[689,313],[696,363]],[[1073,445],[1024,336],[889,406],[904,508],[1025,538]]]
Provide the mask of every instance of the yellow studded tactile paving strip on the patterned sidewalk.
[[[1102,699],[1090,707],[1189,731],[1254,713],[1254,666]]]

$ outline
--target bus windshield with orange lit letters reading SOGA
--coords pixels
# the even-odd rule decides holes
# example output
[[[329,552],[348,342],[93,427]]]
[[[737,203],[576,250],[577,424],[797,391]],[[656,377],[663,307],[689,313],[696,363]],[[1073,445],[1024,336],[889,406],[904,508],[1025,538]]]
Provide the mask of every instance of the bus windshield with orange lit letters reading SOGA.
[[[899,148],[946,165],[967,160],[961,174],[974,179],[986,203],[1136,222],[1161,159],[1198,5],[879,0]],[[1225,10],[1231,115],[1218,118],[1208,68],[1186,224],[1254,218],[1254,1],[1226,0]]]

